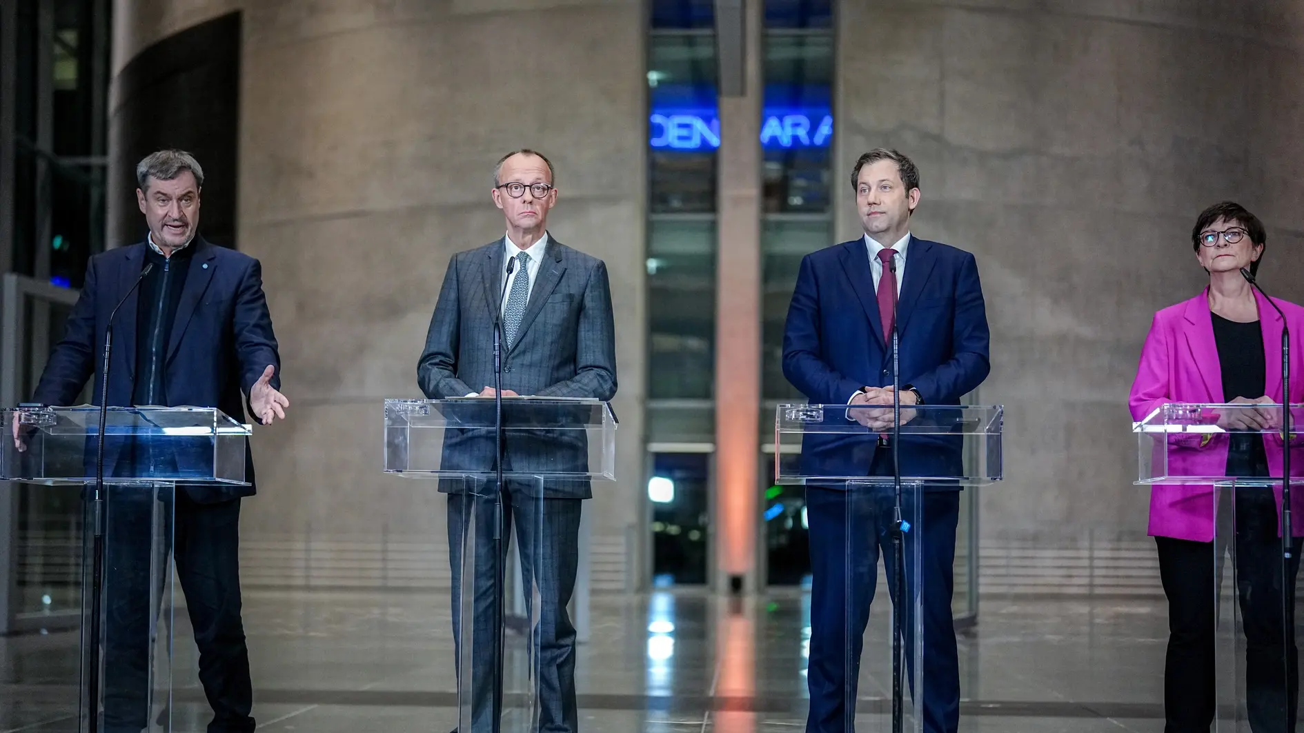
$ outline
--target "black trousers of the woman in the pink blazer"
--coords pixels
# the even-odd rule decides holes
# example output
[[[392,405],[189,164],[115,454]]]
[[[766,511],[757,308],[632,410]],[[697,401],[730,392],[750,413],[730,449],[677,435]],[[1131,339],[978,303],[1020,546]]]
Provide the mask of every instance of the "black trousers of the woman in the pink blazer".
[[[1226,496],[1226,494],[1223,494]],[[1221,498],[1226,503],[1227,500]],[[1282,552],[1278,513],[1269,489],[1239,489],[1235,497],[1236,595],[1245,633],[1245,706],[1254,733],[1295,730],[1299,699],[1297,648],[1282,659]],[[1214,720],[1217,578],[1224,541],[1155,537],[1159,576],[1168,597],[1168,653],[1163,670],[1166,733],[1208,733]],[[1288,567],[1294,597],[1301,540]],[[1292,635],[1294,636],[1294,635]],[[1284,668],[1288,664],[1290,674]],[[1290,728],[1286,726],[1290,706]]]

